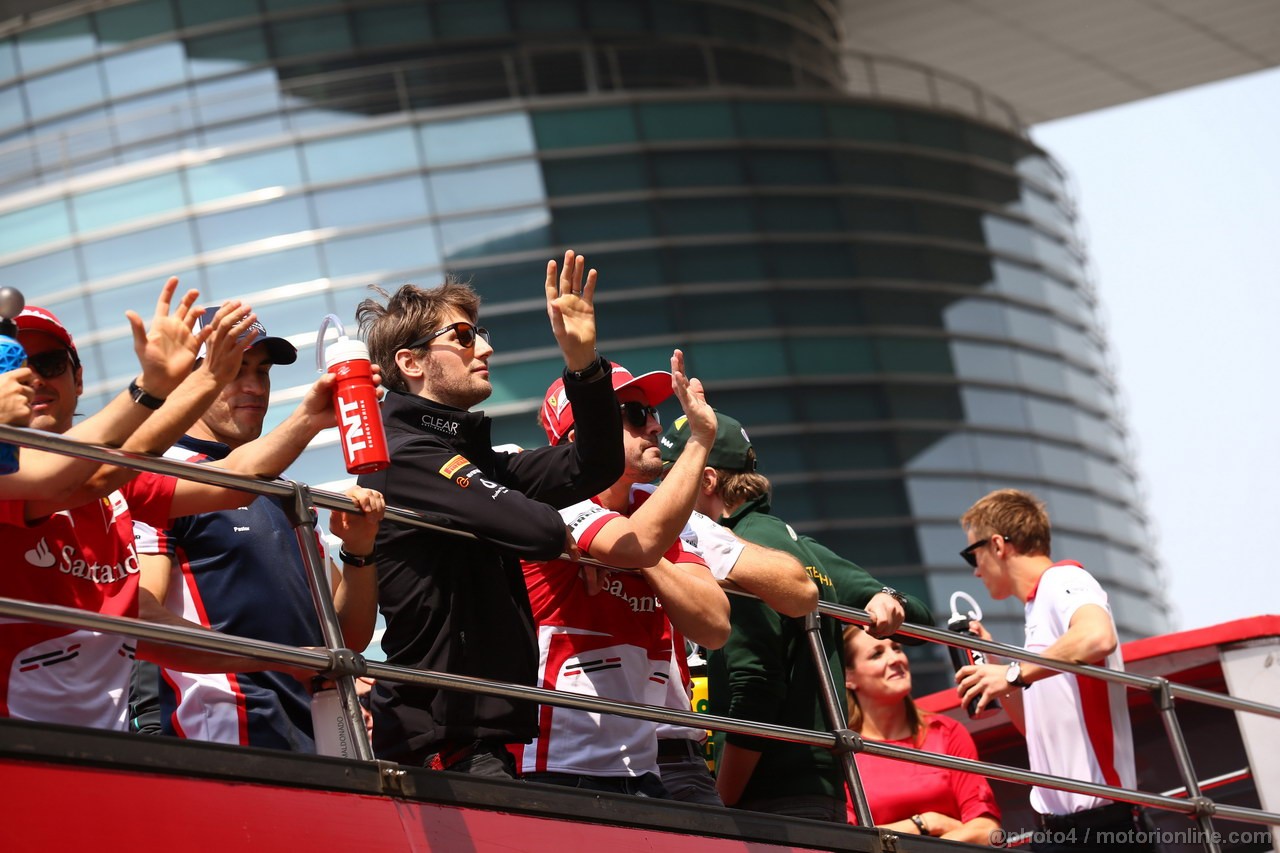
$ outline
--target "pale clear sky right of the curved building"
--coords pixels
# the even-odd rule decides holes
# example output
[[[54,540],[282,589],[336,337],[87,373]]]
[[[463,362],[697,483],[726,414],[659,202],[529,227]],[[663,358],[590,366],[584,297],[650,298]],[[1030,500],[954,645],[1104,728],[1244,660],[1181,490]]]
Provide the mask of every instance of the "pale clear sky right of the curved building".
[[[1280,69],[1032,136],[1076,184],[1175,625],[1280,613]]]

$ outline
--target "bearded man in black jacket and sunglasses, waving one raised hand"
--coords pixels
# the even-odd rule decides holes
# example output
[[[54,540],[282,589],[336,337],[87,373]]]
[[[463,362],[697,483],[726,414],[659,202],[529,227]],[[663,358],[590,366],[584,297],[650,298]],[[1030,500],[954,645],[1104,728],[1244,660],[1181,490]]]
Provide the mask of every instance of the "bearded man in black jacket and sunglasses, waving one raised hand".
[[[383,649],[392,663],[534,684],[536,644],[520,558],[573,548],[554,506],[600,492],[622,473],[621,412],[595,352],[595,270],[564,254],[547,264],[544,292],[581,414],[579,442],[495,452],[489,419],[470,411],[493,391],[493,346],[479,296],[452,280],[406,284],[356,316],[388,394],[383,420],[392,465],[360,484],[387,502],[422,510],[480,542],[394,524],[378,533]],[[371,694],[374,749],[435,770],[513,776],[508,743],[538,731],[536,706],[380,681]]]

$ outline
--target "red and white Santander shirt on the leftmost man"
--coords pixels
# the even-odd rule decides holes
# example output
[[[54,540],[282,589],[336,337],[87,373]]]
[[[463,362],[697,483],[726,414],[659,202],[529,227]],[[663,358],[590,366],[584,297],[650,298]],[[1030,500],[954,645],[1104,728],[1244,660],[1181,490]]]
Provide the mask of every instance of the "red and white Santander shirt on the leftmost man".
[[[175,480],[140,474],[105,498],[28,524],[0,501],[0,596],[138,615],[133,519],[164,525]],[[134,640],[0,619],[0,716],[124,731]]]

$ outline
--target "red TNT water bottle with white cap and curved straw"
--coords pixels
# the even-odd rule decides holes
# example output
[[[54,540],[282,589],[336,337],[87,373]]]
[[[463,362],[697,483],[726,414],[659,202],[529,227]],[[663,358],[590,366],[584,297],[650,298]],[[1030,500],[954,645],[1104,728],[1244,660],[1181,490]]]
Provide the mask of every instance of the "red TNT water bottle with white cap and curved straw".
[[[324,336],[330,323],[338,327],[338,339],[326,348]],[[338,416],[338,443],[342,446],[347,473],[372,474],[390,465],[369,347],[358,338],[348,338],[342,320],[333,314],[320,324],[316,366],[338,378],[333,406]]]

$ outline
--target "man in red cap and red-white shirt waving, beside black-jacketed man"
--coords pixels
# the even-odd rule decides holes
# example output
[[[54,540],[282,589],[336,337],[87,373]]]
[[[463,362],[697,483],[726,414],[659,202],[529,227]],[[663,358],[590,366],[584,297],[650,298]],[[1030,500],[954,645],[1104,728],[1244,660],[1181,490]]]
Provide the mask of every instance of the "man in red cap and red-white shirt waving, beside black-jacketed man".
[[[701,383],[687,379],[684,353],[671,373],[632,375],[613,365],[622,410],[625,471],[609,488],[561,510],[577,546],[594,560],[639,573],[598,571],[566,560],[526,561],[525,583],[538,620],[539,684],[625,702],[662,704],[684,679],[673,640],[718,648],[728,635],[728,601],[707,562],[680,534],[694,508],[698,475],[716,439],[716,415]],[[675,392],[692,425],[685,464],[666,482],[658,451],[657,406]],[[577,410],[563,380],[547,389],[539,423],[552,444],[577,439]],[[599,594],[598,594],[599,593]],[[669,620],[669,625],[668,625]],[[672,631],[671,629],[675,629]],[[611,661],[607,666],[593,661]],[[684,710],[689,710],[687,702]],[[526,779],[556,785],[669,797],[659,780],[657,725],[545,706],[538,739],[520,756]]]

